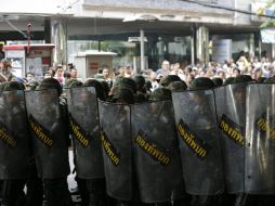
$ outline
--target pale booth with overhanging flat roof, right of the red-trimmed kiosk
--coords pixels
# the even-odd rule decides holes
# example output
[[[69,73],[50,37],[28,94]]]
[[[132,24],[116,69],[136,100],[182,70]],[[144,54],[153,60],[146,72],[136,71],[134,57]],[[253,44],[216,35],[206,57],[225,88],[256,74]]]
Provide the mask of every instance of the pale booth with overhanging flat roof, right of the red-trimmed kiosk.
[[[99,68],[108,68],[109,76],[113,75],[113,57],[117,55],[114,52],[86,51],[78,52],[75,56],[75,65],[78,76],[82,79],[93,78]]]

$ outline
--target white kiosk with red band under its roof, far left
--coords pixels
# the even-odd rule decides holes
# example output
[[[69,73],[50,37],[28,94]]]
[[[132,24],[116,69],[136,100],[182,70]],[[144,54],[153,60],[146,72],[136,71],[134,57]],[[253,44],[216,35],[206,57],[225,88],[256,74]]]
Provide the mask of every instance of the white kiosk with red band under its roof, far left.
[[[35,74],[37,80],[52,64],[54,44],[13,44],[4,46],[5,59],[12,63],[12,73],[24,78],[28,72]]]

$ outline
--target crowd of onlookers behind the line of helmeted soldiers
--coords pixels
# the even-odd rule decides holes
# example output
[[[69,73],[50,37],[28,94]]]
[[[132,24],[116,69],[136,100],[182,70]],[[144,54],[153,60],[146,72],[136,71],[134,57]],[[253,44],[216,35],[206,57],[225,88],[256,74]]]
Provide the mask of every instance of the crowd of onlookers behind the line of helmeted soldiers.
[[[218,86],[225,82],[226,79],[233,79],[239,75],[250,76],[253,81],[264,82],[273,77],[275,74],[275,63],[269,60],[269,57],[262,56],[250,57],[247,53],[240,52],[237,61],[233,59],[225,61],[223,64],[209,62],[207,65],[183,65],[180,63],[170,63],[165,60],[160,68],[145,69],[141,74],[136,74],[136,70],[132,66],[120,66],[118,68],[100,68],[99,73],[89,78],[106,81],[109,89],[116,81],[117,77],[134,78],[136,75],[142,75],[145,79],[145,86],[147,92],[153,92],[156,88],[160,87],[160,79],[168,76],[178,76],[180,81],[191,86],[192,81],[198,77],[206,77],[213,80]],[[83,82],[84,79],[78,77],[78,69],[68,65],[57,65],[51,67],[43,73],[43,78],[55,78],[65,88],[71,80],[78,80]],[[11,63],[3,59],[0,63],[0,82],[16,80],[29,88],[29,85],[38,85],[38,79],[35,74],[27,73],[25,78],[17,78],[12,73]],[[42,79],[39,79],[42,80]]]

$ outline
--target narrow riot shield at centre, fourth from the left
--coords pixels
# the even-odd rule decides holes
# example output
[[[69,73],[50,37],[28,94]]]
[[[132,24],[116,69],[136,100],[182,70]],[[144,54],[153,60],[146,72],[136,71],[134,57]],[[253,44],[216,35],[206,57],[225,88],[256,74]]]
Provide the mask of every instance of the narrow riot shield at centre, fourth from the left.
[[[130,107],[99,102],[106,188],[109,196],[132,198]]]

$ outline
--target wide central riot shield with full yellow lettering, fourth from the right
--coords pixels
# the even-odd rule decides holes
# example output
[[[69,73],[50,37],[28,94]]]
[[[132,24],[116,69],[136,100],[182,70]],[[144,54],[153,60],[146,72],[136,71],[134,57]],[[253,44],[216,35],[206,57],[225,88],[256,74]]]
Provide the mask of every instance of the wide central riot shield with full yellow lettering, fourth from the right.
[[[131,106],[134,170],[143,203],[183,195],[183,178],[171,101]]]

